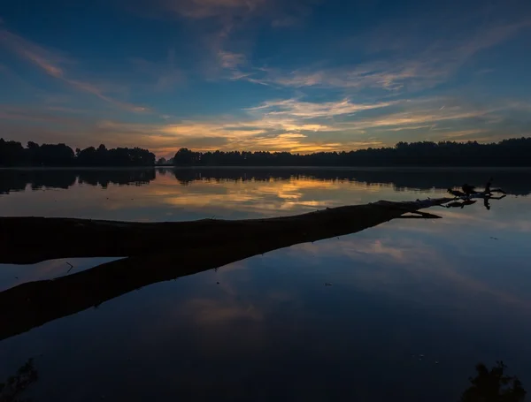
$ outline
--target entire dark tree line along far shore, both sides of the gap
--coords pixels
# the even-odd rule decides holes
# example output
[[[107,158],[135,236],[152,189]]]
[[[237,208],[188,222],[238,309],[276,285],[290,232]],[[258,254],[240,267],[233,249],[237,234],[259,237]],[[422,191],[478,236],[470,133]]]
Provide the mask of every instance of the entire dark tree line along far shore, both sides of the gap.
[[[395,147],[317,152],[194,152],[181,148],[175,166],[531,166],[531,137],[497,143],[398,142]],[[164,158],[158,164],[166,163]],[[0,166],[153,166],[155,155],[142,148],[73,148],[65,144],[0,138]]]

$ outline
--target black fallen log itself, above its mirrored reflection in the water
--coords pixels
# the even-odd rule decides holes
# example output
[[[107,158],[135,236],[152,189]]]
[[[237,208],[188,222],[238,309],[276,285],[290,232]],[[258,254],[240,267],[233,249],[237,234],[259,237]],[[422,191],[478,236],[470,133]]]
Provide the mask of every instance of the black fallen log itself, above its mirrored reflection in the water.
[[[211,243],[236,245],[247,239],[294,235],[319,227],[341,229],[344,220],[360,227],[451,199],[391,202],[324,209],[267,219],[137,223],[50,217],[0,217],[0,263],[31,264],[58,258],[127,257],[172,249],[176,253]],[[367,209],[365,211],[365,209]],[[363,212],[360,212],[364,210]],[[389,215],[390,214],[390,215]]]

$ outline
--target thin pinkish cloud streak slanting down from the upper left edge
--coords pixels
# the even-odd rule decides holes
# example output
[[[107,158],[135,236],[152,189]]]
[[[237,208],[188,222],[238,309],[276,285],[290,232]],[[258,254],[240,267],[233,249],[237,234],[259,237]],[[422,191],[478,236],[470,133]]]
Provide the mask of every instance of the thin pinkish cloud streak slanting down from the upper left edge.
[[[35,64],[43,72],[47,73],[53,78],[61,80],[65,84],[74,89],[85,92],[118,106],[120,109],[132,112],[145,112],[148,109],[128,102],[121,102],[106,95],[106,88],[101,85],[96,85],[85,80],[76,80],[70,78],[65,71],[65,64],[73,64],[73,61],[58,51],[45,49],[42,46],[36,45],[33,42],[27,41],[17,34],[12,34],[7,30],[0,30],[0,46],[10,49],[13,53]]]

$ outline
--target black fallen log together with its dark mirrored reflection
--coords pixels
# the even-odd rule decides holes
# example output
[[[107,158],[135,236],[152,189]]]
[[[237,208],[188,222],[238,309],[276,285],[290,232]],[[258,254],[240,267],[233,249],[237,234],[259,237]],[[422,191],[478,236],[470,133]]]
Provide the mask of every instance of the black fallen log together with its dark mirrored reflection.
[[[299,243],[362,231],[452,201],[390,202],[242,221],[137,224],[41,217],[0,218],[0,262],[127,256],[52,280],[0,292],[0,340],[99,306],[149,284],[184,277]]]

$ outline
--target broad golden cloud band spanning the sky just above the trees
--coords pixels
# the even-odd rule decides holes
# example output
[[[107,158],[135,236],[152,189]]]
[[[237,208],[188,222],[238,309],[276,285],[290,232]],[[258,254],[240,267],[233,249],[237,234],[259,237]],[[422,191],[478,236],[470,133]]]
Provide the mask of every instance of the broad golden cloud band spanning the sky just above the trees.
[[[441,104],[445,104],[444,109]],[[517,108],[521,104],[514,103]],[[76,116],[66,118],[57,110],[0,110],[4,133],[18,133],[18,139],[32,140],[32,122],[42,122],[50,139],[71,133],[78,143],[89,146],[140,146],[160,156],[171,156],[181,147],[195,150],[266,150],[310,153],[379,148],[398,140],[494,140],[506,137],[490,126],[503,109],[472,107],[449,98],[421,98],[416,101],[354,103],[307,102],[286,99],[263,102],[242,110],[240,116],[219,116],[158,123],[133,123],[113,118]],[[441,125],[441,126],[438,126]],[[433,128],[430,131],[430,127]],[[57,133],[54,134],[54,133]],[[399,137],[397,137],[399,133]],[[481,137],[478,137],[478,134]],[[418,136],[421,135],[421,138]],[[415,137],[417,136],[417,137]]]

